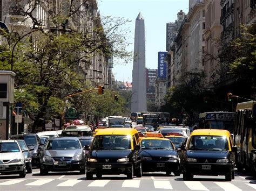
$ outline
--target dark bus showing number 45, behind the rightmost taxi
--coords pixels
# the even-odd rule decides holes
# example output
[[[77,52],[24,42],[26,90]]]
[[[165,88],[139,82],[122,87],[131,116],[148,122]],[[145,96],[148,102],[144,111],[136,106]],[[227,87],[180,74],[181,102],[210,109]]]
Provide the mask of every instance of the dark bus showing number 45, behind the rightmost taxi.
[[[212,111],[199,114],[199,129],[224,129],[234,133],[235,112]]]

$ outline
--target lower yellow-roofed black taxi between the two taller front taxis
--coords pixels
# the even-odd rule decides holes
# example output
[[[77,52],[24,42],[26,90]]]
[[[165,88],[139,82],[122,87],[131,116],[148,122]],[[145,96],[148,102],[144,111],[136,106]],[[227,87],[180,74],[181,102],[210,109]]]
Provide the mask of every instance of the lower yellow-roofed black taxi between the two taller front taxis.
[[[142,171],[143,172],[166,172],[170,175],[180,175],[179,155],[167,138],[161,133],[147,133],[140,138],[142,147]]]

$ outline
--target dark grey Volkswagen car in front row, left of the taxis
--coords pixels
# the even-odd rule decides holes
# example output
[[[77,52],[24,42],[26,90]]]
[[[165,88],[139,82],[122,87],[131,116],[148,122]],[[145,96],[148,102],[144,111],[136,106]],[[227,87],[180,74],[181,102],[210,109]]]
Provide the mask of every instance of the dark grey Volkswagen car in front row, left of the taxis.
[[[77,137],[48,139],[40,155],[40,174],[46,175],[49,171],[85,174],[85,152]]]

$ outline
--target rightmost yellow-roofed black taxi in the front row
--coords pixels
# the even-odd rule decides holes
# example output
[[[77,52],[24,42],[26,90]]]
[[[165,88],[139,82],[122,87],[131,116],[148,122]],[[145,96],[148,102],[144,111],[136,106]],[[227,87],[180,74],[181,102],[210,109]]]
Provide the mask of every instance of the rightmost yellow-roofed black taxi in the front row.
[[[226,181],[234,179],[235,151],[232,137],[227,130],[194,130],[187,145],[182,145],[183,179],[193,175],[225,175]]]

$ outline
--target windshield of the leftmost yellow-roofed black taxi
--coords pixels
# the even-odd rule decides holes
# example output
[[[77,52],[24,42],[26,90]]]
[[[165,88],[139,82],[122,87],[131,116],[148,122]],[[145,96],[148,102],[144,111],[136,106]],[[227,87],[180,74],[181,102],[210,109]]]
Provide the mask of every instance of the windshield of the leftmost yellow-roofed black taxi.
[[[131,149],[130,136],[99,135],[93,141],[93,150],[128,150]]]

